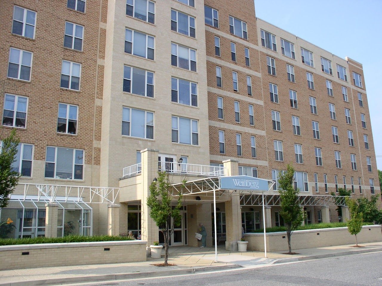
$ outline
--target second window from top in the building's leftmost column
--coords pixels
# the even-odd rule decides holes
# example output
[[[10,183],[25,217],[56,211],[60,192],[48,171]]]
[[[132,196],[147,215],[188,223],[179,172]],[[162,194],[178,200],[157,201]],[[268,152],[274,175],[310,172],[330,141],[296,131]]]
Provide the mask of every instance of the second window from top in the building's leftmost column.
[[[30,81],[32,57],[31,52],[11,48],[9,51],[8,78]]]

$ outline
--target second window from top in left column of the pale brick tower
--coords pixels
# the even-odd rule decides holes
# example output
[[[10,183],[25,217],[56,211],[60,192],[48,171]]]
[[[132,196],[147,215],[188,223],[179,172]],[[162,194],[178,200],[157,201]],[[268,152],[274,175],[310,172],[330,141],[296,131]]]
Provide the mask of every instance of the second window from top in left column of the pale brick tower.
[[[125,53],[154,60],[154,37],[126,29]]]

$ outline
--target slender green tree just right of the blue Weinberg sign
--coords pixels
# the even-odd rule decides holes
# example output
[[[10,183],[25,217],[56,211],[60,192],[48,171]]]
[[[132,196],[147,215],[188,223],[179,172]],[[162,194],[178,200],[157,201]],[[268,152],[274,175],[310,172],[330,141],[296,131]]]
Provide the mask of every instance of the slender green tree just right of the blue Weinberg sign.
[[[301,226],[304,220],[304,213],[298,202],[298,190],[293,187],[293,177],[295,170],[289,164],[286,166],[286,172],[279,175],[278,184],[280,185],[280,215],[282,216],[286,226],[286,236],[288,238],[289,253],[292,252],[290,246],[290,238]]]

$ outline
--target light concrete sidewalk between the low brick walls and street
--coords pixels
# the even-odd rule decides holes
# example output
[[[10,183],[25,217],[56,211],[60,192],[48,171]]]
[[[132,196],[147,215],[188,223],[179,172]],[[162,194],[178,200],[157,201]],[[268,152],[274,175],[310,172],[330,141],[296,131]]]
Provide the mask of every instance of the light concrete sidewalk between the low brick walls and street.
[[[361,244],[362,248],[351,245],[293,250],[298,255],[277,252],[230,252],[219,248],[218,262],[215,263],[215,249],[197,247],[170,247],[168,262],[176,266],[157,267],[152,264],[163,262],[147,258],[145,262],[60,266],[0,271],[0,286],[37,286],[121,279],[147,278],[168,275],[183,275],[204,271],[228,270],[241,267],[256,267],[272,263],[296,262],[310,259],[351,255],[356,253],[382,251],[382,242]]]

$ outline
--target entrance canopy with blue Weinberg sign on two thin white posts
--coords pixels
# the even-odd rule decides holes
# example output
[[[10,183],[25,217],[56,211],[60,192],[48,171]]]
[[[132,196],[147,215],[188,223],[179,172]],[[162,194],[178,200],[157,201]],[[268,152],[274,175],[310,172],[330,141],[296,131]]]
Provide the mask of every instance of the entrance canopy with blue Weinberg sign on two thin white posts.
[[[172,195],[199,195],[214,194],[214,226],[215,226],[215,262],[217,262],[217,235],[216,235],[216,193],[222,196],[235,195],[262,195],[263,225],[265,226],[264,192],[273,188],[275,182],[250,176],[209,177],[186,183],[172,184]],[[264,256],[267,257],[267,241],[264,228]]]

